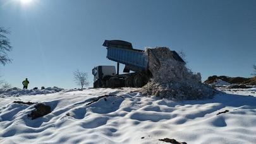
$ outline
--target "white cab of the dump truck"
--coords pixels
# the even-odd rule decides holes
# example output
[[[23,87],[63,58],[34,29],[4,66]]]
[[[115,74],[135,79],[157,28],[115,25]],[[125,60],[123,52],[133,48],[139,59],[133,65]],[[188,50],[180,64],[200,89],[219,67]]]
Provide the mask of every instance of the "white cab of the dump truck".
[[[106,87],[106,80],[116,75],[115,66],[96,66],[92,69],[94,87]]]

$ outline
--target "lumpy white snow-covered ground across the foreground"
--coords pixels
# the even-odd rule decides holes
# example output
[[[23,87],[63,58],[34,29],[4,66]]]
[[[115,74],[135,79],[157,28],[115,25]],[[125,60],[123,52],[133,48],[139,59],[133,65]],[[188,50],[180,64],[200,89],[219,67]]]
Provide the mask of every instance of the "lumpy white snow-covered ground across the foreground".
[[[0,143],[165,143],[160,138],[256,143],[255,89],[225,92],[230,93],[179,102],[145,97],[136,88],[62,90],[20,97],[2,93]],[[102,95],[113,96],[90,104]],[[27,115],[35,104],[15,104],[15,100],[43,102],[52,112],[32,120]]]

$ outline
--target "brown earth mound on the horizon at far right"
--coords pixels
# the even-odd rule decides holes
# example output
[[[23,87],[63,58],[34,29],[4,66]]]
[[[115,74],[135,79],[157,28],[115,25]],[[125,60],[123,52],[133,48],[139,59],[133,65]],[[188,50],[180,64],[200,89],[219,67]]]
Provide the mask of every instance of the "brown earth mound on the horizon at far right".
[[[244,85],[256,85],[256,76],[253,78],[243,78],[243,77],[229,77],[229,76],[209,76],[204,83],[211,84],[217,80],[226,81],[231,84],[244,84]]]

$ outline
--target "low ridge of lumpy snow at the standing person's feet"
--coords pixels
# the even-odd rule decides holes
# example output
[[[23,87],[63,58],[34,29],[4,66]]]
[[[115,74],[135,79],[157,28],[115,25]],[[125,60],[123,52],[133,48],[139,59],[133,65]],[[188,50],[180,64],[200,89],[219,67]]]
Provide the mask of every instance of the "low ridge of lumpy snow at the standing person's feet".
[[[21,95],[38,95],[38,94],[47,94],[47,93],[56,93],[64,90],[63,88],[58,87],[48,87],[44,90],[27,90],[20,88],[9,88],[9,89],[0,89],[0,97],[19,97]]]

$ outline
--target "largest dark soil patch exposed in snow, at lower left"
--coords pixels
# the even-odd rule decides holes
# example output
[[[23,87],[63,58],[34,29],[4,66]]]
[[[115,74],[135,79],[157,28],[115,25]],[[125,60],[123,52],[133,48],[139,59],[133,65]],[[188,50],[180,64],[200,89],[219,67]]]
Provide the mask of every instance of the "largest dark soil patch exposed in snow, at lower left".
[[[28,117],[36,119],[49,113],[51,113],[51,107],[49,105],[37,104],[35,105],[35,110],[28,114]]]

